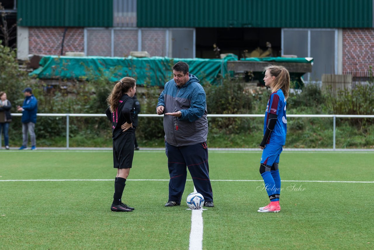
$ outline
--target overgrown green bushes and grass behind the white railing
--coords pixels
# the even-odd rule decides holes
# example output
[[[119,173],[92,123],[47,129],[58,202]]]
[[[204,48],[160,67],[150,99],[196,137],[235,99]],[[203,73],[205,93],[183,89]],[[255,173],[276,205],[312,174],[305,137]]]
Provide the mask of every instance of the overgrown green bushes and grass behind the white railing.
[[[62,70],[62,69],[56,69]],[[112,69],[118,73],[119,69]],[[87,69],[88,81],[64,81],[53,91],[45,82],[31,79],[18,69],[15,51],[0,46],[0,91],[6,91],[12,102],[22,105],[25,87],[32,87],[39,100],[39,113],[104,114],[105,99],[114,82],[107,80],[111,71],[93,72]],[[270,90],[265,87],[247,89],[243,83],[225,78],[218,85],[206,84],[208,114],[264,114]],[[162,91],[145,84],[138,92],[141,114],[155,114],[157,99]],[[291,93],[287,100],[287,114],[374,114],[374,81],[356,84],[352,89],[334,93],[322,91],[319,85],[307,84],[301,93]],[[263,135],[263,118],[209,117],[208,143],[210,147],[258,147]],[[332,148],[332,118],[288,118],[286,147]],[[337,148],[373,148],[374,120],[337,118]],[[36,125],[37,144],[64,147],[66,118],[39,116]],[[111,147],[111,126],[106,117],[70,117],[70,147]],[[22,142],[21,117],[14,117],[9,130],[10,145]],[[140,117],[137,138],[141,147],[163,146],[162,118]]]

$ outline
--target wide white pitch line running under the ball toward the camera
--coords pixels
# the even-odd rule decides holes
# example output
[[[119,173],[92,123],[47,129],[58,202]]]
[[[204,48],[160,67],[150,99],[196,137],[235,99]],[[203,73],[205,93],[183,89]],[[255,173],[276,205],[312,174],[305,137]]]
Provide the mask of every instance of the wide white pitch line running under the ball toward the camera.
[[[193,192],[197,193],[195,186]],[[189,250],[203,249],[203,210],[193,209],[191,215],[191,233]]]

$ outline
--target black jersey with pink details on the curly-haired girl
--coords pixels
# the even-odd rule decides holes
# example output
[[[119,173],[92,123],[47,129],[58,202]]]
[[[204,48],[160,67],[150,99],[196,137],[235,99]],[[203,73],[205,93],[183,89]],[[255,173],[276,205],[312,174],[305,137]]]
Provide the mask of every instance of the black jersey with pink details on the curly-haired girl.
[[[108,119],[112,122],[113,128],[113,140],[117,138],[117,136],[121,135],[122,129],[121,126],[127,122],[132,123],[132,119],[134,119],[134,112],[135,112],[135,105],[134,99],[124,94],[121,99],[119,100],[119,104],[114,110],[114,112],[110,112],[110,108],[107,108],[105,114],[107,115]],[[132,124],[132,128],[126,130],[126,132],[134,133],[135,126]],[[126,133],[124,132],[124,133]]]

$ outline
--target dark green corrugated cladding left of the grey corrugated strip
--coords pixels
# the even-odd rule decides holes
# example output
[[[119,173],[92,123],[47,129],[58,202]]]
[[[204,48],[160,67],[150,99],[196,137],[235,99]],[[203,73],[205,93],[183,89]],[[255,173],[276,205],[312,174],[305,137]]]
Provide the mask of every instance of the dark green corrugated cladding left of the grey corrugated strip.
[[[19,26],[113,27],[113,0],[18,0]]]

